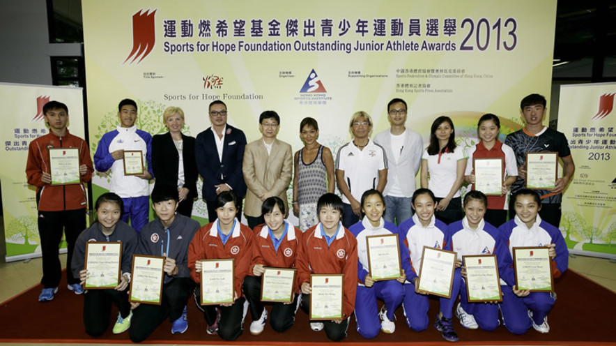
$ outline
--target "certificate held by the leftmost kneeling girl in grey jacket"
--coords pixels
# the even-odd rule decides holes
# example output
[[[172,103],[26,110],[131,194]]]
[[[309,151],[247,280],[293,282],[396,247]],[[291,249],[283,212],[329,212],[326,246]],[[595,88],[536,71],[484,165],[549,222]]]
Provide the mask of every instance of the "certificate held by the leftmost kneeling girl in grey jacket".
[[[122,242],[86,243],[86,260],[84,269],[88,278],[84,288],[108,289],[115,288],[120,283],[122,264]]]

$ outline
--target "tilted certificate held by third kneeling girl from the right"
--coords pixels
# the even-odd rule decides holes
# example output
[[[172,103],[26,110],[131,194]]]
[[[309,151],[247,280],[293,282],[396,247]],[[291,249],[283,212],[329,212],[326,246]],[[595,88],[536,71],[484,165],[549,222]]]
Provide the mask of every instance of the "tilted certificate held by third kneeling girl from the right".
[[[436,296],[451,298],[455,269],[456,253],[424,246],[417,289]]]

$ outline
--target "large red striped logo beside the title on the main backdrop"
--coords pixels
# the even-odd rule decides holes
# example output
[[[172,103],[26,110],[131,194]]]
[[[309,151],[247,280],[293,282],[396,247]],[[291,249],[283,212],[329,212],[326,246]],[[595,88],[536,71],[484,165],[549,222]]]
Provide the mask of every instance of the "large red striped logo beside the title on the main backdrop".
[[[133,61],[139,59],[137,63],[140,63],[141,60],[145,59],[152,49],[154,48],[154,44],[156,42],[155,36],[155,27],[154,27],[154,15],[156,10],[139,10],[139,12],[132,15],[132,50],[128,57],[126,57],[126,61]]]

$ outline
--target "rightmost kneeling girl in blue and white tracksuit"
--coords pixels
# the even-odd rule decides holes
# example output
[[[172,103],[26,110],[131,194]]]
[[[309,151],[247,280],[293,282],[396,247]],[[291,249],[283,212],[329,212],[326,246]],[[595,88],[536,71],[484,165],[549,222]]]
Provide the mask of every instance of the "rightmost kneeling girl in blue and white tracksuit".
[[[534,190],[518,190],[513,200],[516,217],[498,228],[509,243],[511,256],[514,247],[545,246],[550,249],[553,277],[558,278],[569,264],[569,252],[560,230],[541,220],[541,200]],[[529,292],[511,285],[502,285],[501,289],[500,312],[508,331],[523,334],[531,325],[540,333],[550,331],[548,313],[556,300],[555,294]]]

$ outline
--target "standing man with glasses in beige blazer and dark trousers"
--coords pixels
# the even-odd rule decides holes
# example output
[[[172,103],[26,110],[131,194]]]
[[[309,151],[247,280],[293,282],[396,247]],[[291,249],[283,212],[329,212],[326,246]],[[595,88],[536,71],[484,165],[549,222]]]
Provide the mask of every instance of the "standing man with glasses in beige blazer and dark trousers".
[[[293,151],[291,145],[276,139],[280,126],[280,117],[272,110],[266,110],[259,116],[259,130],[263,137],[246,146],[242,172],[248,190],[244,215],[248,227],[264,223],[261,216],[261,204],[272,196],[284,201],[285,215],[288,214],[286,189],[293,174]]]

